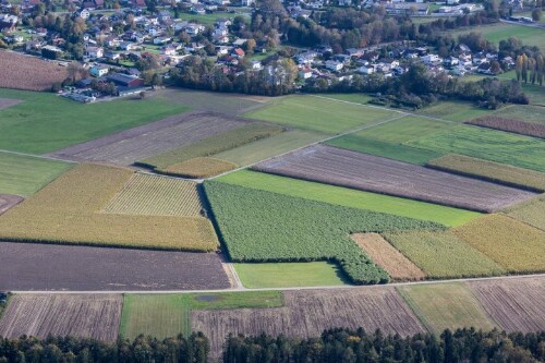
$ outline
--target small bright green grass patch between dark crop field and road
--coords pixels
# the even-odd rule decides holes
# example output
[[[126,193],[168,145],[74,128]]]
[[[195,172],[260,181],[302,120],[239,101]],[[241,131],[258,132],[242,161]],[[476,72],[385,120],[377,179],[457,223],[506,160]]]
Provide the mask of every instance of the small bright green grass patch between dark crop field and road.
[[[234,268],[249,289],[348,285],[339,267],[326,262],[234,264]]]

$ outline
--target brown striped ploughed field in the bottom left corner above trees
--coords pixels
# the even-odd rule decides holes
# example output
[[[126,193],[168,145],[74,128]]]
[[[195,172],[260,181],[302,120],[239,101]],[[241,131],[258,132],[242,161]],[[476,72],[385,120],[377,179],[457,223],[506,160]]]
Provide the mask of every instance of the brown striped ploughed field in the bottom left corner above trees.
[[[122,304],[121,294],[14,295],[0,319],[0,336],[72,336],[113,342]]]

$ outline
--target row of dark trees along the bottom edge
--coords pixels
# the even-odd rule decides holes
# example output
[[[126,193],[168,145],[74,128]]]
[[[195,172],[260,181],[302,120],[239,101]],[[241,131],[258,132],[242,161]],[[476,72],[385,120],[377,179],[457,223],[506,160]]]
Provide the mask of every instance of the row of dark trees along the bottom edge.
[[[74,337],[0,338],[0,363],[205,363],[211,361],[209,352],[202,332],[164,340],[140,336],[114,343]],[[545,331],[464,328],[401,337],[336,328],[307,339],[230,335],[221,356],[223,363],[533,363],[545,361]]]

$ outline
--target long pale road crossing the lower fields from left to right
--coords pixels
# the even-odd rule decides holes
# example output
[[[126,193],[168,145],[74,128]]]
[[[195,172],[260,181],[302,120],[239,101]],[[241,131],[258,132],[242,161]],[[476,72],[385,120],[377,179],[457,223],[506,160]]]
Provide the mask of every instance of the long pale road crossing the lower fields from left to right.
[[[393,282],[383,285],[367,285],[367,286],[318,286],[318,287],[294,287],[294,288],[259,288],[259,289],[213,289],[213,290],[94,290],[94,291],[80,291],[80,290],[10,290],[14,294],[172,294],[172,293],[220,293],[220,292],[242,292],[242,291],[300,291],[300,290],[354,290],[354,289],[384,289],[397,288],[405,286],[420,286],[420,285],[440,285],[452,282],[477,282],[477,281],[501,281],[513,279],[530,279],[530,278],[545,278],[545,274],[533,275],[508,275],[508,276],[494,276],[494,277],[472,277],[462,279],[447,279],[447,280],[426,280],[426,281],[410,281],[410,282]]]

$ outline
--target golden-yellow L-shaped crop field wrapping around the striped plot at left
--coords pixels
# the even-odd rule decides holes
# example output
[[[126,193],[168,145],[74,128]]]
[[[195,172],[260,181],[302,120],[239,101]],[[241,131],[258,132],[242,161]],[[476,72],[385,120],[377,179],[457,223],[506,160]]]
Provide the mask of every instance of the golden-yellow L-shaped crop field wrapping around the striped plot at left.
[[[3,214],[0,240],[216,251],[216,234],[203,217],[100,214],[132,176],[129,169],[81,165]]]

